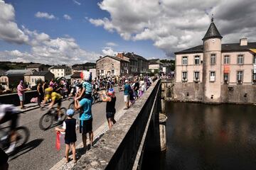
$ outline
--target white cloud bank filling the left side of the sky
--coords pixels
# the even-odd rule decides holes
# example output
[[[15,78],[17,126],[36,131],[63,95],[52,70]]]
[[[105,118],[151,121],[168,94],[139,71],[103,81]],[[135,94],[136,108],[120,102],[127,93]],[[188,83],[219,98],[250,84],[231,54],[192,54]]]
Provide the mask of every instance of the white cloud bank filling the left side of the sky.
[[[95,62],[101,54],[87,52],[80,48],[74,38],[51,38],[47,33],[38,33],[24,26],[18,28],[15,21],[15,11],[11,4],[0,0],[0,39],[31,46],[31,50],[6,50],[0,52],[1,61],[41,62],[44,64],[76,64]],[[49,14],[38,13],[44,18],[53,18]]]

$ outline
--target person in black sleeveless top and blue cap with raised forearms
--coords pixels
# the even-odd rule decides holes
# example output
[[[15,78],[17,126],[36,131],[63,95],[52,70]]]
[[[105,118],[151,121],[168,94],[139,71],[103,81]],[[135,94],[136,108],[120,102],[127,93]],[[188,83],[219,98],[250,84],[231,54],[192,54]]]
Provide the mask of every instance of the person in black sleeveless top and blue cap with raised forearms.
[[[109,128],[111,129],[112,125],[116,123],[116,120],[114,120],[114,113],[116,113],[115,102],[117,101],[117,98],[114,96],[114,89],[109,89],[107,96],[105,96],[105,94],[100,94],[100,96],[102,97],[102,101],[107,102],[106,118]]]

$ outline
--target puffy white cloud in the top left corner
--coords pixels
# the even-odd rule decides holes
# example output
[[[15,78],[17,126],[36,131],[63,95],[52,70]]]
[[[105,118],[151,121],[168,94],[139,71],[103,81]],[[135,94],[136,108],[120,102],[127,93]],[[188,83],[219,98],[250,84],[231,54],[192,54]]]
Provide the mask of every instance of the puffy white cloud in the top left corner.
[[[0,9],[0,40],[16,44],[28,42],[28,36],[18,28],[14,21],[14,7],[0,0]]]

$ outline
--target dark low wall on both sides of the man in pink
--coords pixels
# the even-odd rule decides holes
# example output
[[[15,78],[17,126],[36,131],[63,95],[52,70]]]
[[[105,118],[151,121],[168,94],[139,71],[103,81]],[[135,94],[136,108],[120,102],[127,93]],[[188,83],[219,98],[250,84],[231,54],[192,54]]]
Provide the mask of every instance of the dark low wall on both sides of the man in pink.
[[[37,96],[37,91],[26,91],[25,92],[25,104],[30,103],[31,98]],[[14,106],[19,106],[20,101],[18,98],[18,94],[4,94],[0,95],[0,103],[5,103],[5,104],[13,104]]]

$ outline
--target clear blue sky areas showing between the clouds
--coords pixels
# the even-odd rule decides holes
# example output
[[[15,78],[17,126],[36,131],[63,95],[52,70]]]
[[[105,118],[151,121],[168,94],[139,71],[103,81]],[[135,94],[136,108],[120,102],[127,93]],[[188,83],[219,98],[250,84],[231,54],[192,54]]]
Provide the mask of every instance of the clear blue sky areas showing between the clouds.
[[[28,30],[36,30],[38,33],[46,33],[50,38],[71,37],[87,52],[95,52],[99,55],[102,49],[109,47],[107,42],[114,42],[114,52],[134,52],[146,58],[164,57],[161,50],[154,47],[151,40],[124,40],[117,32],[110,32],[102,27],[97,27],[88,21],[88,18],[110,17],[110,13],[103,11],[95,0],[18,0],[5,1],[11,4],[15,10],[15,22],[18,28],[24,26]],[[80,5],[79,5],[80,4]],[[37,18],[37,12],[48,13],[55,16],[54,19]],[[70,20],[63,15],[71,17]],[[29,52],[31,45],[16,44],[0,40],[0,51],[18,50]],[[85,61],[86,62],[86,61]],[[93,60],[92,60],[93,62]]]

